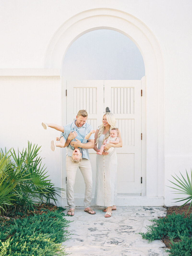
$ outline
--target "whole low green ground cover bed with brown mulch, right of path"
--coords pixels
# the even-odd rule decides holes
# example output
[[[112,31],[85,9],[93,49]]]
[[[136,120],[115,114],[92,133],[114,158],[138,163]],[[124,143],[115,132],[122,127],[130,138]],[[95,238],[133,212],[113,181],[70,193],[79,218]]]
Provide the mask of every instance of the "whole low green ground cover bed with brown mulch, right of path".
[[[172,256],[192,255],[192,207],[165,207],[167,215],[153,219],[152,225],[147,226],[146,233],[140,233],[142,238],[149,242],[155,239],[162,240]],[[190,211],[189,211],[190,209]]]

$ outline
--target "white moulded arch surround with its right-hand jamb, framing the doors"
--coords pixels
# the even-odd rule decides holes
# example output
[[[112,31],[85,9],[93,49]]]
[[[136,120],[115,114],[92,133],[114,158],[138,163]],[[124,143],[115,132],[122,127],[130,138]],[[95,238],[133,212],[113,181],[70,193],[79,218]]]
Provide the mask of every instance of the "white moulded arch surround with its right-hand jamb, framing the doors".
[[[146,198],[144,205],[162,205],[164,195],[164,72],[159,44],[140,20],[125,12],[114,9],[92,9],[79,13],[67,20],[55,33],[47,49],[45,68],[61,69],[62,60],[70,45],[81,35],[96,29],[112,29],[129,37],[139,48],[145,63],[146,125],[142,124],[143,141],[146,147],[142,155],[143,184]],[[65,103],[65,98],[63,98]],[[65,118],[65,115],[64,115]],[[135,201],[135,199],[134,199]],[[131,204],[131,200],[130,200]],[[139,204],[139,200],[138,200]],[[141,205],[141,204],[140,204]]]

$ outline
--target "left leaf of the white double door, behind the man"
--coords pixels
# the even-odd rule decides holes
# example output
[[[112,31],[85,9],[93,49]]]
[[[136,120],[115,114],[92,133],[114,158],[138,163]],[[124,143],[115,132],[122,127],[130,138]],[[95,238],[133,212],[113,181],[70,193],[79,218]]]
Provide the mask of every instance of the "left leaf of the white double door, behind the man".
[[[101,123],[104,106],[104,81],[103,80],[74,80],[67,81],[67,123],[71,123],[80,109],[88,113],[87,123],[93,129]],[[89,149],[93,173],[93,194],[96,179],[96,152]],[[65,172],[63,175],[66,175]],[[85,183],[80,170],[77,170],[74,193],[85,193]]]

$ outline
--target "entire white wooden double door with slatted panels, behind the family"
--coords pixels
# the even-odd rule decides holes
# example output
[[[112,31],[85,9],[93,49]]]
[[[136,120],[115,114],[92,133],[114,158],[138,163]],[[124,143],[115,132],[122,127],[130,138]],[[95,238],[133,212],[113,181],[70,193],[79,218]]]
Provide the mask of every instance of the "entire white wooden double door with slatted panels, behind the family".
[[[117,151],[118,193],[141,194],[142,117],[141,80],[75,80],[67,81],[67,123],[80,109],[86,109],[87,122],[93,129],[101,124],[106,107],[116,118],[123,146]],[[93,194],[96,180],[96,152],[89,149],[93,172]],[[76,173],[74,193],[84,193],[80,170]]]

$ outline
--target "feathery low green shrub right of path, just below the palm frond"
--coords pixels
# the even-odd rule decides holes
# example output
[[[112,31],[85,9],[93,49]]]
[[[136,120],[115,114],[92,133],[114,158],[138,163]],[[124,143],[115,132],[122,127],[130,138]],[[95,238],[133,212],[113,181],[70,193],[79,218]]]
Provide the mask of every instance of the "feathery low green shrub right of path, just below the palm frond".
[[[192,214],[189,217],[184,218],[184,214],[173,214],[160,219],[153,219],[155,224],[147,226],[146,233],[139,233],[144,239],[153,241],[155,239],[162,239],[165,236],[170,237],[170,240],[179,238],[179,236],[191,236],[192,235]]]

